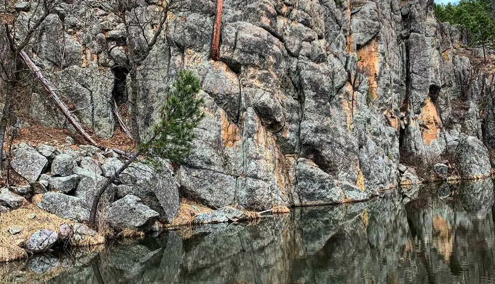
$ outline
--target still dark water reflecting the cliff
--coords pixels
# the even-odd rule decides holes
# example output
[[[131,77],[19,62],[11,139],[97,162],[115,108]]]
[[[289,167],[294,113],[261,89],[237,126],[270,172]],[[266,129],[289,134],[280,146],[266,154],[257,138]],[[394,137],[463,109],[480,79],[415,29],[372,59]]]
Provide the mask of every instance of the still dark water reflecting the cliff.
[[[0,282],[493,283],[492,180],[0,264]]]

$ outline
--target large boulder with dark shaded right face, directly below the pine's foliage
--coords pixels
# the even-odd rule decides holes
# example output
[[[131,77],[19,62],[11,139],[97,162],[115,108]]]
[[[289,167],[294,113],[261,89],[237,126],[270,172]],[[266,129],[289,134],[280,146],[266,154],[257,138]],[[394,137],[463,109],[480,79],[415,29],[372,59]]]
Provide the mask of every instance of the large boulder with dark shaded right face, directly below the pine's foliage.
[[[132,163],[120,175],[123,183],[144,204],[160,214],[160,220],[170,223],[179,210],[179,186],[171,165],[164,162],[161,169],[153,169],[143,163]]]

